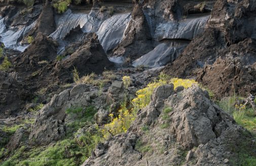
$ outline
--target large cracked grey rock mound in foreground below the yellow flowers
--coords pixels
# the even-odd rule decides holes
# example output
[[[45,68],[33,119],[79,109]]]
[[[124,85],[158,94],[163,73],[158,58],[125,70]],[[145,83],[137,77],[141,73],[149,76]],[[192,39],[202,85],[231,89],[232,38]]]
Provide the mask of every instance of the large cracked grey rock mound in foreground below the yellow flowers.
[[[99,144],[83,165],[238,165],[240,147],[256,146],[245,133],[198,86],[161,86],[128,132]]]

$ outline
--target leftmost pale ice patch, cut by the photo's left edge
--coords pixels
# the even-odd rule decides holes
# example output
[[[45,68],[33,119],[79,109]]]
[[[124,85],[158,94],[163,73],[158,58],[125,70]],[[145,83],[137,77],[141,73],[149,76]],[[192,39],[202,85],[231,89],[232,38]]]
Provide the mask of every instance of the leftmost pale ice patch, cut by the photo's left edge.
[[[35,21],[36,22],[36,21]],[[14,31],[7,30],[4,24],[4,18],[0,20],[0,41],[2,41],[6,48],[15,49],[23,52],[28,45],[21,46],[20,41],[23,37],[30,31],[30,29],[35,25],[35,22],[30,24],[29,26],[24,26],[23,28]]]

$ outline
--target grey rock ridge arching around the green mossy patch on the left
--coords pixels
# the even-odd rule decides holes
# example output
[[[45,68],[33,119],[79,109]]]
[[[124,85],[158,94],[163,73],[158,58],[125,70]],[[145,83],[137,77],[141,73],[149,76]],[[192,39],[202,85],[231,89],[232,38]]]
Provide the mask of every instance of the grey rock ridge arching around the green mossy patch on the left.
[[[47,145],[63,138],[66,134],[66,109],[92,105],[99,109],[105,104],[104,101],[105,95],[98,97],[97,92],[90,92],[89,87],[83,84],[55,95],[36,116],[29,135],[30,143]]]

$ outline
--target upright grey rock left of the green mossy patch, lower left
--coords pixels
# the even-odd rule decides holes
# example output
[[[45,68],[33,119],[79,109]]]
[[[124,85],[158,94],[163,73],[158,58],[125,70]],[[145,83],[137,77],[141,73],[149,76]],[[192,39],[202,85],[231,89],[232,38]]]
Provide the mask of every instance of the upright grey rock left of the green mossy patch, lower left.
[[[63,105],[68,99],[69,91],[63,91],[58,96],[55,95],[51,102],[40,110],[29,135],[31,144],[47,145],[65,136]]]

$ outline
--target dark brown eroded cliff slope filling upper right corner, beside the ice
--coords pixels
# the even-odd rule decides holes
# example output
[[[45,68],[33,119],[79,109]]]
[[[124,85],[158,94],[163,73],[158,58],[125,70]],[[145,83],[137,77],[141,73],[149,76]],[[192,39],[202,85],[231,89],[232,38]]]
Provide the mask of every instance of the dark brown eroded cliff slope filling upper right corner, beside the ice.
[[[254,11],[254,1],[217,1],[205,31],[194,38],[165,71],[187,77],[201,70],[197,80],[209,85],[217,97],[231,95],[234,91],[255,93],[252,83],[255,78]]]

